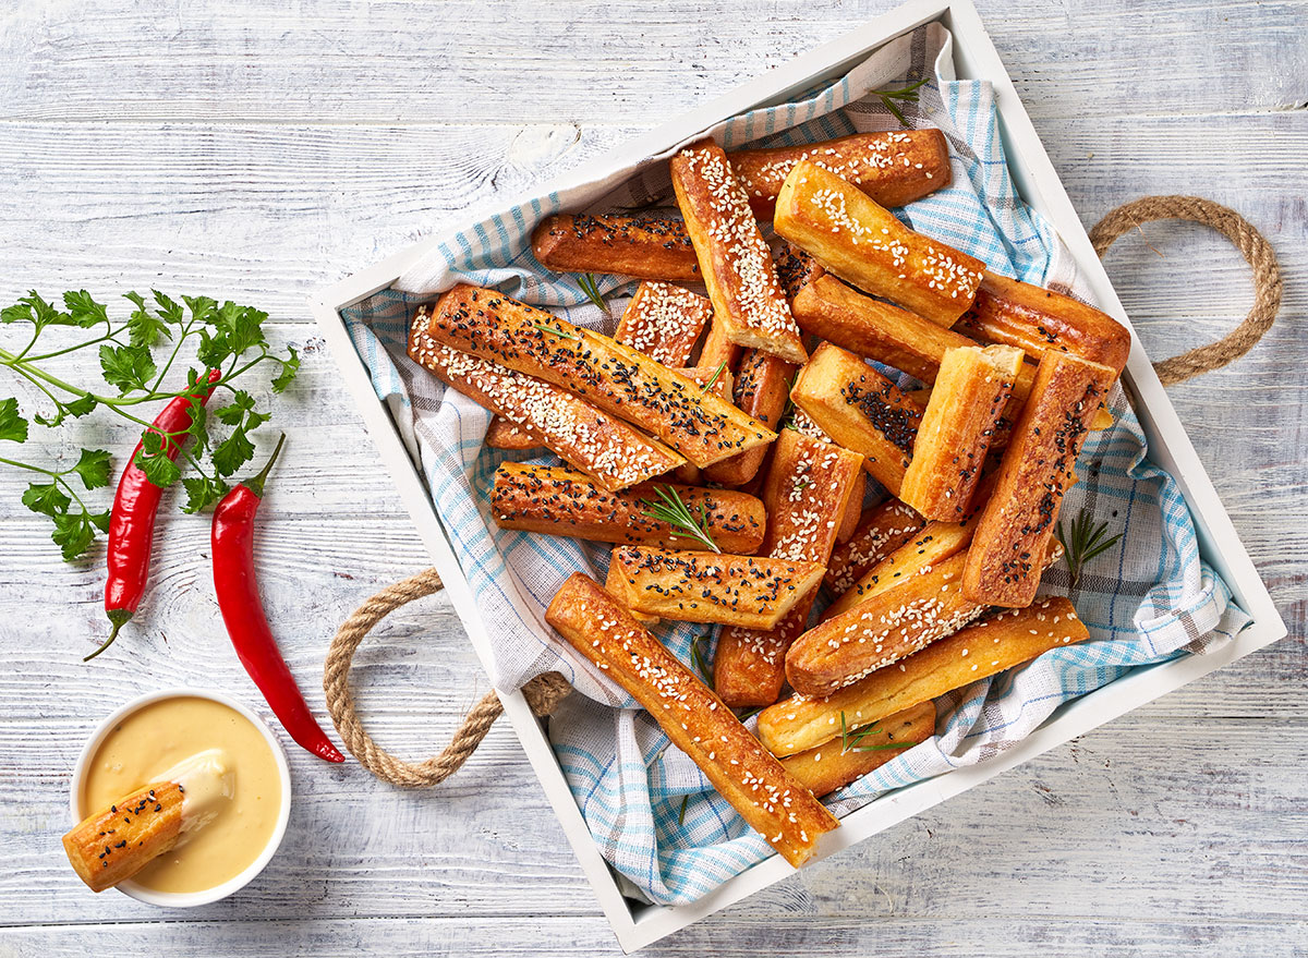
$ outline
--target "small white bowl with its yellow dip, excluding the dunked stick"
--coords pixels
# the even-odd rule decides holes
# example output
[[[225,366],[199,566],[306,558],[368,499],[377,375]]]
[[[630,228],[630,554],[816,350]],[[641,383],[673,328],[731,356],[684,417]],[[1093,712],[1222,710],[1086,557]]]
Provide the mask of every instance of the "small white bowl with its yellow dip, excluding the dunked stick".
[[[239,701],[196,688],[143,695],[99,724],[73,768],[73,821],[200,753],[218,755],[224,771],[221,785],[192,788],[198,806],[204,802],[204,826],[115,885],[124,895],[171,908],[209,904],[245,887],[281,844],[290,818],[290,768],[281,743]]]

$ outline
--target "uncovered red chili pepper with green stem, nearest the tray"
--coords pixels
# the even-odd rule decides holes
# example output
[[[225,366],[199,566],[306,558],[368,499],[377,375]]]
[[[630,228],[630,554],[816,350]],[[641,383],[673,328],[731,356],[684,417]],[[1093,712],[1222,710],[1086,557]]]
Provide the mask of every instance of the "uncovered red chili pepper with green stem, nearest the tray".
[[[263,471],[237,484],[213,512],[213,588],[228,635],[241,665],[259,686],[273,715],[301,746],[320,759],[344,762],[335,745],[309,711],[296,677],[277,650],[259,602],[259,582],[254,575],[254,520],[263,499],[263,484],[286,441],[283,436]]]

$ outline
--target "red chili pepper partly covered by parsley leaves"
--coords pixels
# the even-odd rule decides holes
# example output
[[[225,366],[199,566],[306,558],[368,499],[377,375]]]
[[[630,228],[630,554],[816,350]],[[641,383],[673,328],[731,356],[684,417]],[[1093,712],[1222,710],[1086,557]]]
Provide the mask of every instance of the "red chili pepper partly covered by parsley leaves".
[[[170,438],[171,433],[191,428],[191,397],[200,404],[209,400],[212,383],[222,378],[217,369],[209,372],[209,387],[196,393],[186,393],[170,400],[146,432],[164,436],[164,454],[177,459],[182,452],[179,441]],[[141,437],[144,442],[144,436]],[[105,584],[105,614],[114,631],[98,649],[84,662],[89,662],[107,649],[118,637],[119,630],[136,614],[145,594],[145,580],[150,575],[150,548],[154,544],[154,516],[160,509],[164,489],[145,478],[136,465],[141,442],[132,450],[122,478],[118,480],[118,493],[114,496],[114,512],[109,520],[109,581]]]

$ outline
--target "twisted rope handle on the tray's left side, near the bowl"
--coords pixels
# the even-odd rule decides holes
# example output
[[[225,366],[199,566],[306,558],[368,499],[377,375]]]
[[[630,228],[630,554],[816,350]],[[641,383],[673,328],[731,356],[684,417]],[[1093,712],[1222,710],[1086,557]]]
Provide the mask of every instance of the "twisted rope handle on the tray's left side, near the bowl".
[[[443,588],[436,569],[425,569],[382,589],[356,609],[336,631],[327,649],[327,665],[323,669],[327,712],[336,724],[336,732],[344,739],[345,747],[378,779],[404,788],[428,788],[454,775],[481,745],[494,720],[504,713],[500,696],[493,691],[487,692],[468,712],[445,750],[425,762],[404,762],[395,758],[373,741],[358,720],[354,696],[349,690],[349,666],[354,660],[354,652],[387,615]],[[557,671],[538,675],[522,688],[535,715],[549,715],[570,691],[568,679]]]

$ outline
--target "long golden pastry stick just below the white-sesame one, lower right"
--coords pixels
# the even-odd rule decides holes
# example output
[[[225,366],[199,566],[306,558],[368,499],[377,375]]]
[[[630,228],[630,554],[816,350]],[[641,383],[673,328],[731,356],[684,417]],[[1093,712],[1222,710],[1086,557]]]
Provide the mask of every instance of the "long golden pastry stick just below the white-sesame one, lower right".
[[[1036,601],[955,632],[827,698],[794,695],[759,715],[759,738],[774,755],[794,755],[840,734],[930,701],[955,688],[1090,637],[1071,602]]]

